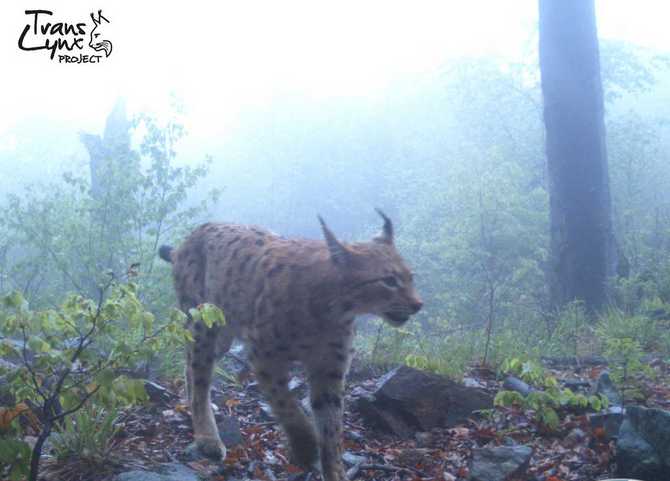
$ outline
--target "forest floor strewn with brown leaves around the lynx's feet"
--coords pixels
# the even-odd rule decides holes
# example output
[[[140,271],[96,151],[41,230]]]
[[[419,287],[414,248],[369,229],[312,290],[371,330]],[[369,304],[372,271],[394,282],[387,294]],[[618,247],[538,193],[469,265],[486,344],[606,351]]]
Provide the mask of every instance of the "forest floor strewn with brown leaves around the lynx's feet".
[[[660,360],[651,365],[656,377],[653,381],[638,380],[643,401],[637,403],[670,409],[670,366]],[[603,369],[602,365],[562,366],[548,371],[557,379],[593,383]],[[469,419],[453,428],[434,429],[411,440],[368,428],[353,408],[353,398],[360,390],[374,391],[378,374],[369,368],[354,367],[347,383],[344,447],[350,479],[466,480],[473,448],[491,444],[532,447],[528,480],[589,481],[614,477],[614,442],[605,439],[601,428],[591,428],[584,412],[561,413],[560,427],[553,432],[542,429],[532,412],[516,408],[496,408],[490,416]],[[490,370],[473,368],[467,376],[470,382],[492,394],[502,389],[501,381]],[[291,382],[297,386],[298,395],[306,395],[299,376]],[[232,424],[232,436],[240,441],[235,446],[227,443],[228,456],[223,463],[185,455],[193,438],[188,409],[176,395],[182,386],[179,382],[164,386],[167,392],[175,393],[170,396],[171,401],[124,413],[111,455],[117,462],[107,463],[106,469],[77,462],[70,466],[49,465],[48,471],[59,473],[61,479],[106,481],[124,469],[151,470],[158,463],[180,462],[211,481],[316,479],[289,463],[280,428],[272,421],[253,378],[244,384],[224,383],[214,391],[217,420]]]

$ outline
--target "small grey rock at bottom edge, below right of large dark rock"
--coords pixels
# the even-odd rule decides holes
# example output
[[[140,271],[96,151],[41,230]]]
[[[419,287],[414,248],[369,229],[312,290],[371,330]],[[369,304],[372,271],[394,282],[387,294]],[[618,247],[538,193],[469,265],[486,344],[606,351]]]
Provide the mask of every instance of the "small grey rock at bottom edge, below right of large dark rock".
[[[528,469],[533,450],[528,446],[496,446],[474,449],[470,481],[511,481]]]

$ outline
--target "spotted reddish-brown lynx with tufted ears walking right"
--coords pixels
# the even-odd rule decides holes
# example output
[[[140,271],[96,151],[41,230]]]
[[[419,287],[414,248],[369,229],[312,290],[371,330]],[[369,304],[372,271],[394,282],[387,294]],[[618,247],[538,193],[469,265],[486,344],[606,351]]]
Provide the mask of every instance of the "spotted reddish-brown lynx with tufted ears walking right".
[[[321,217],[324,241],[286,239],[236,224],[205,224],[179,247],[163,246],[173,264],[179,306],[185,312],[212,303],[225,326],[189,321],[186,385],[196,445],[225,457],[210,403],[216,359],[234,338],[249,360],[272,412],[288,437],[291,459],[319,467],[326,481],[346,479],[342,465],[344,378],[353,354],[354,317],[374,314],[401,326],[422,302],[412,273],[397,252],[393,225],[372,241],[340,242]],[[311,414],[288,388],[292,361],[305,368]]]

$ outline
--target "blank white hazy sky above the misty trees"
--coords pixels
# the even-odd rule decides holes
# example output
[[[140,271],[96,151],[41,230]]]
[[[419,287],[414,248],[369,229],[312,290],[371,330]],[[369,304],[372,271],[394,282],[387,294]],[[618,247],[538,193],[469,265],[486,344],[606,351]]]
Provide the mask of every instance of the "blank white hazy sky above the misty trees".
[[[90,23],[91,9],[102,8],[112,54],[65,65],[19,50],[27,8],[72,23]],[[670,50],[667,0],[599,0],[597,8],[601,37]],[[536,0],[4,0],[0,148],[25,119],[101,129],[118,96],[136,111],[160,109],[170,92],[185,102],[191,132],[221,135],[240,111],[276,96],[370,97],[450,56],[518,56],[536,22]]]

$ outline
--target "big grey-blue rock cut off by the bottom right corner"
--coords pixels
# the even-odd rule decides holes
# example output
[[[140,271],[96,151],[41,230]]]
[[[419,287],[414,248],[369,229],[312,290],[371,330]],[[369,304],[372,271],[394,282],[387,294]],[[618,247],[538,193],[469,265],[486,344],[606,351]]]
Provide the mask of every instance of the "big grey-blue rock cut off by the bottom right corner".
[[[667,481],[670,412],[640,406],[627,408],[616,448],[618,476]]]

